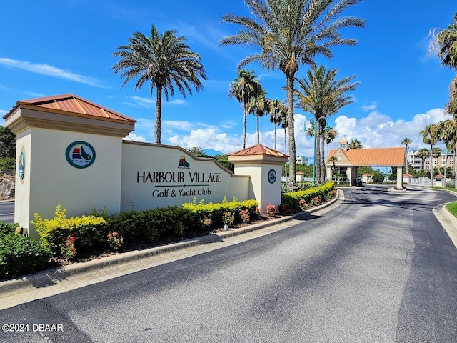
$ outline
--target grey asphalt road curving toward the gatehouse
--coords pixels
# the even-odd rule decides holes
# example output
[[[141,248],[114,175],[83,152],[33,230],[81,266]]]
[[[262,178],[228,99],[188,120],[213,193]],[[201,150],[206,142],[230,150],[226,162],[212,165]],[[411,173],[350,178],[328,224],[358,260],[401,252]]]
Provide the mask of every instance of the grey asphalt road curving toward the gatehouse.
[[[6,309],[2,329],[29,331],[0,342],[456,342],[457,250],[431,211],[456,197],[386,190],[346,189],[288,229]]]

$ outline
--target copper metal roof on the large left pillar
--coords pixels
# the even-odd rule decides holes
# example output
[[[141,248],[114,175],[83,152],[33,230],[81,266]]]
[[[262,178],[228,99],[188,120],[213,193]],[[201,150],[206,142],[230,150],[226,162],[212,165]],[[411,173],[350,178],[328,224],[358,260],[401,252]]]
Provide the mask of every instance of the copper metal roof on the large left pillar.
[[[4,119],[13,114],[19,106],[29,109],[38,107],[37,110],[40,111],[52,111],[69,115],[96,116],[99,117],[99,119],[105,120],[136,122],[136,120],[124,116],[124,114],[117,113],[116,111],[107,109],[104,106],[100,106],[99,104],[95,104],[92,101],[83,99],[74,94],[61,94],[17,101],[16,106],[4,115]]]

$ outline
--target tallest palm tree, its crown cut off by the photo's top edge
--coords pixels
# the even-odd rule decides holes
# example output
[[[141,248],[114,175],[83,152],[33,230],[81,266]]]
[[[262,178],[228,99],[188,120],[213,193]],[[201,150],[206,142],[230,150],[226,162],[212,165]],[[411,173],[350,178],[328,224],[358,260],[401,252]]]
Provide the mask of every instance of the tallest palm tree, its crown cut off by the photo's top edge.
[[[339,32],[346,27],[363,27],[365,21],[341,12],[361,0],[245,0],[253,18],[225,14],[222,21],[237,24],[241,30],[221,39],[221,46],[248,46],[257,49],[239,62],[245,66],[258,61],[265,70],[279,69],[286,74],[289,162],[291,184],[295,183],[296,146],[293,125],[293,89],[295,74],[303,65],[315,65],[321,55],[333,56],[333,46],[357,43],[343,38]]]

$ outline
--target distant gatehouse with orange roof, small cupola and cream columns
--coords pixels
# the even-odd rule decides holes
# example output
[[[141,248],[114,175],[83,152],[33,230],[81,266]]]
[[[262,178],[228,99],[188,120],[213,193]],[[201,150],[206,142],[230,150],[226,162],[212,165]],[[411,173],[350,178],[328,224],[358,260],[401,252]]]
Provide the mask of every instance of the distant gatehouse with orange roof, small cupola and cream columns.
[[[326,179],[331,179],[331,171],[343,176],[350,185],[355,184],[357,169],[360,166],[388,166],[397,168],[396,189],[403,189],[403,165],[405,148],[348,149],[348,141],[343,137],[338,141],[338,149],[328,153]],[[336,156],[335,159],[331,159]]]

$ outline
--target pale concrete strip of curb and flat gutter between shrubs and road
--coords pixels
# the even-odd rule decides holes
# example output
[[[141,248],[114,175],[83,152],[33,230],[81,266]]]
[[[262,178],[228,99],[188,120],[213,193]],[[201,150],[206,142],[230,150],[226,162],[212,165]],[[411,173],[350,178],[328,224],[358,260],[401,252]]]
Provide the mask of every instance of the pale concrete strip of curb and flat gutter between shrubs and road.
[[[338,190],[336,197],[331,202],[313,207],[306,212],[317,212],[320,215],[339,206],[343,200],[344,194]],[[159,247],[125,252],[0,281],[0,310],[271,234],[297,224],[299,221],[296,217],[303,213],[305,212],[241,229],[217,232]]]

